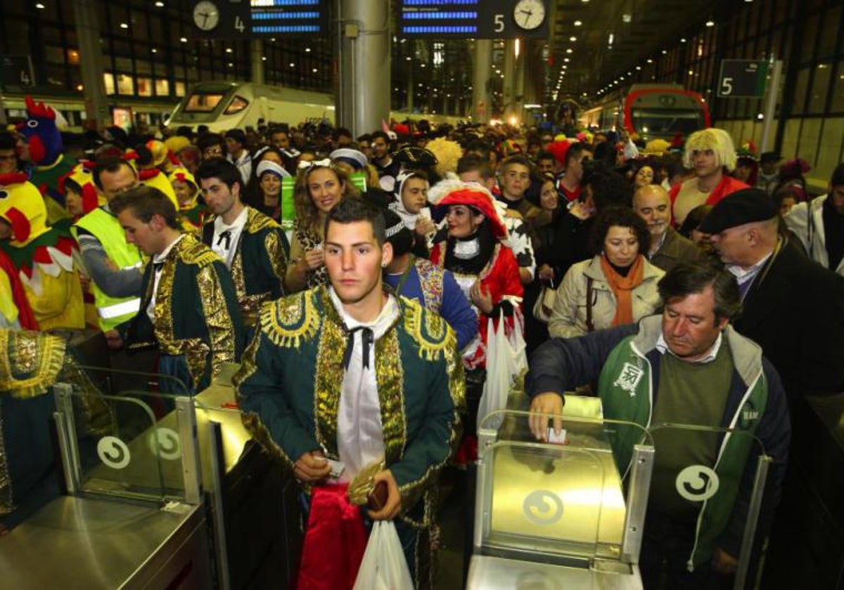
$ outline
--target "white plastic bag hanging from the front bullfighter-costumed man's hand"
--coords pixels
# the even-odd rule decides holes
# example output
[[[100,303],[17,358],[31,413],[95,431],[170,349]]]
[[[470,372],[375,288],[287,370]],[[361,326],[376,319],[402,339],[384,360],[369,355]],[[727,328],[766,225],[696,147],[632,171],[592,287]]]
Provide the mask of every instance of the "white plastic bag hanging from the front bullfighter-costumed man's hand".
[[[413,590],[408,561],[392,520],[372,525],[354,590]]]

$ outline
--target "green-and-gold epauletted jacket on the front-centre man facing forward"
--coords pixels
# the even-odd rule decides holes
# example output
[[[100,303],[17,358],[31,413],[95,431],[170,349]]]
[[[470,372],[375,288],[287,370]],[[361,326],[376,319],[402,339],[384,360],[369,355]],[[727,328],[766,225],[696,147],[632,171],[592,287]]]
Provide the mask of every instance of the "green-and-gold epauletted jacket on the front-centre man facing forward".
[[[410,299],[398,305],[396,324],[376,341],[376,382],[387,469],[404,513],[436,483],[457,444],[465,381],[445,320]],[[257,330],[235,375],[246,427],[288,467],[322,448],[338,459],[347,332],[327,288],[265,304]]]

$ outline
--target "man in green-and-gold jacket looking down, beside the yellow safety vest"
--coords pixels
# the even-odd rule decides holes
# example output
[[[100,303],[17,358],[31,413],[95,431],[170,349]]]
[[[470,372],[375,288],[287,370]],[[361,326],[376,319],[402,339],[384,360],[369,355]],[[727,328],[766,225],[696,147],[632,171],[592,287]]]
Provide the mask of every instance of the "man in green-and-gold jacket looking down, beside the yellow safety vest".
[[[241,356],[244,328],[223,260],[182,233],[176,206],[160,190],[138,186],[109,202],[129,244],[150,256],[141,310],[127,329],[129,351],[157,346],[159,371],[202,391],[225,362]],[[170,383],[162,389],[177,393]]]

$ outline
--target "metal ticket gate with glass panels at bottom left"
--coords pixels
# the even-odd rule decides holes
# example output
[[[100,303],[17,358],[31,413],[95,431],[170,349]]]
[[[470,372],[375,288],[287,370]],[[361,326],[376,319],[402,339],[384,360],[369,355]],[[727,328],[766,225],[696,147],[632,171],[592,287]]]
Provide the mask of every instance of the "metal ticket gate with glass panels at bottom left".
[[[52,392],[64,494],[0,536],[4,584],[288,586],[298,486],[246,432],[237,366],[191,397],[160,393],[186,391],[165,375],[80,368]]]

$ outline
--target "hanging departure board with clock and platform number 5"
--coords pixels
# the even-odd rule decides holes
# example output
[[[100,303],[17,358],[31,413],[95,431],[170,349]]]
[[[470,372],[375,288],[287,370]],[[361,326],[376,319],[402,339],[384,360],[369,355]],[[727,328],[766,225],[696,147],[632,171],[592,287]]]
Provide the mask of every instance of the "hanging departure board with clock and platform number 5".
[[[398,35],[508,39],[549,35],[546,0],[399,0]]]

